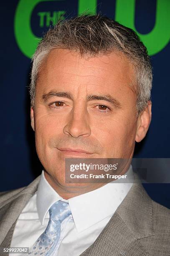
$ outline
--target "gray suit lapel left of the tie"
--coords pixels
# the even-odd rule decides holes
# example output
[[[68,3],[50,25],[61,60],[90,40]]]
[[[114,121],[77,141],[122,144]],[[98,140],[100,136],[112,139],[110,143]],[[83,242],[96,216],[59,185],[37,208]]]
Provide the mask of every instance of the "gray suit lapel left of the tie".
[[[17,219],[30,197],[32,197],[36,192],[40,176],[41,175],[39,175],[36,179],[33,180],[33,182],[31,182],[27,187],[24,187],[14,196],[11,195],[12,199],[10,197],[1,204],[0,247],[10,246]]]

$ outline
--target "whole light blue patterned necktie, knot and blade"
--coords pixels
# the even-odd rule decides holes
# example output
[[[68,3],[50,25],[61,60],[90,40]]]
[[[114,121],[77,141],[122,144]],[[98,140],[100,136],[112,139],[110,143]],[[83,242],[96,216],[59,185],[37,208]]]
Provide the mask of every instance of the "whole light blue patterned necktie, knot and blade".
[[[57,201],[50,207],[49,214],[48,226],[29,249],[29,255],[51,255],[60,238],[61,222],[71,214],[71,210],[68,203]]]

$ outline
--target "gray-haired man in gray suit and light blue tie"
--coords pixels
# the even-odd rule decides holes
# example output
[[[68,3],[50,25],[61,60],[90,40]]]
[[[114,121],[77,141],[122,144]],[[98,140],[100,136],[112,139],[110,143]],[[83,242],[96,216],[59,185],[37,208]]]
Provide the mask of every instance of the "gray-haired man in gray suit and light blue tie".
[[[44,169],[27,187],[1,193],[1,248],[29,247],[28,255],[170,255],[170,210],[132,182],[129,161],[119,169],[126,183],[65,180],[66,158],[132,159],[150,125],[151,87],[147,49],[131,29],[81,15],[48,31],[33,56],[30,85]]]

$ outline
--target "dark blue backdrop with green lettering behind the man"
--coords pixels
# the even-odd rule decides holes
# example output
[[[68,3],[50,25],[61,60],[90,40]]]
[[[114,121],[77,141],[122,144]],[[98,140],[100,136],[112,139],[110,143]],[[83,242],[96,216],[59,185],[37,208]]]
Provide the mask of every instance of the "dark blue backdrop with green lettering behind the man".
[[[154,74],[152,122],[134,157],[170,158],[169,0],[1,1],[0,191],[23,187],[42,171],[30,126],[30,56],[58,17],[69,18],[86,8],[134,28],[147,46]],[[170,208],[170,184],[144,187],[153,200]]]

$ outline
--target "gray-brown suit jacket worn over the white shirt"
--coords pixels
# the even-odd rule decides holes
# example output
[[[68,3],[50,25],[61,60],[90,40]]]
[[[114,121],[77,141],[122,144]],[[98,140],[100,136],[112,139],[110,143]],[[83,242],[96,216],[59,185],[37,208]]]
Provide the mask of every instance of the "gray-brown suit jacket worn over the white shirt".
[[[0,193],[0,247],[10,247],[17,218],[36,192],[39,180],[40,176],[27,187]],[[134,183],[83,255],[170,256],[170,210],[151,200],[142,184]]]

